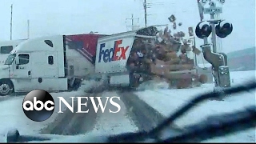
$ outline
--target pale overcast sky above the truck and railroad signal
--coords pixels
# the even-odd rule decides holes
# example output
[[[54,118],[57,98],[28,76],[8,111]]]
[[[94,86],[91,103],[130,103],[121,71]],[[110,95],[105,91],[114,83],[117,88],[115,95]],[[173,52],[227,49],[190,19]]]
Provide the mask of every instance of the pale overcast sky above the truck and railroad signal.
[[[175,14],[186,30],[199,22],[197,0],[147,0],[148,25],[170,24]],[[138,25],[144,25],[143,0],[0,0],[0,40],[10,40],[10,4],[13,3],[13,39],[52,34],[82,34],[98,31],[113,34],[126,31],[126,18],[134,14]],[[255,0],[226,0],[221,18],[232,22],[234,31],[222,39],[224,52],[255,46]],[[128,21],[130,22],[130,21]],[[136,23],[135,23],[136,24]],[[202,40],[197,39],[197,45]]]

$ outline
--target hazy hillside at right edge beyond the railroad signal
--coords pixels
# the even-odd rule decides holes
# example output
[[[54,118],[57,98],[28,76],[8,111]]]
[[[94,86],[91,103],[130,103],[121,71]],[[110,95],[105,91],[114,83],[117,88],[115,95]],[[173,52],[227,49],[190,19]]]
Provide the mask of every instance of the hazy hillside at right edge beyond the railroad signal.
[[[256,47],[237,50],[227,54],[228,66],[232,71],[256,70],[255,49]]]

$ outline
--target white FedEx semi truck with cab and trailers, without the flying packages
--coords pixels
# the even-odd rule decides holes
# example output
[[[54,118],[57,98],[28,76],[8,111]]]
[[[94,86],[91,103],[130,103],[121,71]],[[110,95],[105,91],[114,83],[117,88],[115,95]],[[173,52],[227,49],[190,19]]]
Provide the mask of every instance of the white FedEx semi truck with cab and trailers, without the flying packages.
[[[158,63],[152,50],[161,45],[156,40],[157,33],[155,26],[149,26],[111,35],[74,34],[27,39],[10,52],[0,68],[0,95],[35,89],[78,90],[86,78],[100,78],[107,86],[136,87],[138,82],[162,76],[162,72],[158,74],[155,70],[170,68]],[[196,73],[191,73],[193,59],[190,62],[188,68],[179,66],[183,70],[181,74],[190,74],[191,79]],[[186,69],[190,70],[186,72]],[[169,72],[167,70],[166,74],[171,75]]]

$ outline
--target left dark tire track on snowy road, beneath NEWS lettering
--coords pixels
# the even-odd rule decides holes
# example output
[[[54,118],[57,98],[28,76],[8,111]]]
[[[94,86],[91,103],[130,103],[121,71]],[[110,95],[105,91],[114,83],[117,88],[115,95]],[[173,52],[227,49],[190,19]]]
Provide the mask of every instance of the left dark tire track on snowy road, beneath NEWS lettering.
[[[85,97],[101,96],[101,93],[88,94]],[[90,98],[88,98],[90,99]],[[86,114],[75,113],[78,110],[77,102],[74,101],[74,113],[68,108],[59,114],[54,122],[50,123],[46,128],[41,130],[41,134],[62,134],[62,135],[76,135],[83,134],[87,131],[93,130],[97,114],[90,100],[82,99],[82,103],[87,102],[87,106],[82,106],[82,111],[89,109]],[[98,105],[97,101],[95,101]]]

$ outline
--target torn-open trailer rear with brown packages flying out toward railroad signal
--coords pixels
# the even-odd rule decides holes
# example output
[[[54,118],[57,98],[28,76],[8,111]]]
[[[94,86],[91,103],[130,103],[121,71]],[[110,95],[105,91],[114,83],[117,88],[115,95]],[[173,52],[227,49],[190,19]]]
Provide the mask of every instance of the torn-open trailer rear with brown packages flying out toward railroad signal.
[[[179,23],[180,25],[182,24]],[[174,29],[175,26],[174,22]],[[158,30],[156,27],[158,26],[151,26],[137,32],[141,35],[155,35],[154,40],[142,37],[134,39],[127,61],[127,68],[130,74],[134,75],[134,87],[138,86],[140,81],[155,78],[165,80],[170,83],[170,87],[178,89],[213,82],[210,70],[197,66],[194,57],[201,54],[201,50],[194,46],[193,37],[186,38],[182,31],[171,34],[168,26],[164,30]],[[193,32],[190,30],[189,33],[192,35]]]

